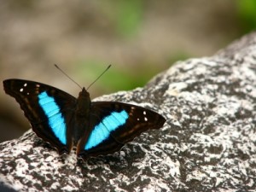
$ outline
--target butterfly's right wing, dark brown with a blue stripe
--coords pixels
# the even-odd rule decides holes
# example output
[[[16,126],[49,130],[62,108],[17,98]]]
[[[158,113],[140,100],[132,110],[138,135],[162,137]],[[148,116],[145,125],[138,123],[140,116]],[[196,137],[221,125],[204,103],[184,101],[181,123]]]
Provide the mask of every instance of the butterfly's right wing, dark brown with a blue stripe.
[[[143,131],[160,129],[165,122],[159,113],[128,103],[92,102],[90,136],[83,138],[78,154],[86,159],[113,153]]]

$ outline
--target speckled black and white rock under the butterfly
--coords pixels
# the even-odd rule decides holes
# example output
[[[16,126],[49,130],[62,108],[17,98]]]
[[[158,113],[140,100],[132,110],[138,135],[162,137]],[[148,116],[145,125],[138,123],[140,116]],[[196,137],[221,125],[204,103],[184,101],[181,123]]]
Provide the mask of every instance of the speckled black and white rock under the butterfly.
[[[97,100],[138,103],[167,122],[82,164],[27,131],[0,144],[2,183],[20,191],[256,189],[256,33],[178,62],[142,89]]]

